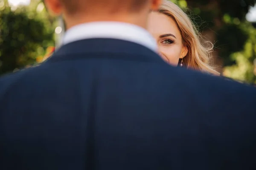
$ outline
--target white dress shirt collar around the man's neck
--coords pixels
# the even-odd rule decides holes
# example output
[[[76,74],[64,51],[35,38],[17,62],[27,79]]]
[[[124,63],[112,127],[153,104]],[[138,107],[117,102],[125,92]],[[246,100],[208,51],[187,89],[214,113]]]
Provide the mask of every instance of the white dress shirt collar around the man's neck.
[[[93,22],[73,26],[65,33],[62,45],[91,38],[126,40],[157,52],[157,43],[148,31],[139,26],[121,22]]]

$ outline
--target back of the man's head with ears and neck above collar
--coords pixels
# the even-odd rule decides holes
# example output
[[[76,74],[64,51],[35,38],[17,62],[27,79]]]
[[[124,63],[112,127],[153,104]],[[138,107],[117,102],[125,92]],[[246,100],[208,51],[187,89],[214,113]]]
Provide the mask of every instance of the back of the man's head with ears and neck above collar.
[[[150,10],[157,10],[161,2],[162,0],[45,0],[50,11],[64,15],[67,27],[93,21],[132,23],[133,20],[144,20],[145,15]]]

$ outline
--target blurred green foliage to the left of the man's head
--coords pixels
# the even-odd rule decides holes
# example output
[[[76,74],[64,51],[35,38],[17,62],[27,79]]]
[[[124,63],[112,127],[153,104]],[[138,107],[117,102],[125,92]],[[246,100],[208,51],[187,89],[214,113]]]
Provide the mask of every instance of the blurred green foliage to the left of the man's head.
[[[40,0],[18,8],[0,0],[0,74],[35,64],[38,55],[54,46],[54,28]]]

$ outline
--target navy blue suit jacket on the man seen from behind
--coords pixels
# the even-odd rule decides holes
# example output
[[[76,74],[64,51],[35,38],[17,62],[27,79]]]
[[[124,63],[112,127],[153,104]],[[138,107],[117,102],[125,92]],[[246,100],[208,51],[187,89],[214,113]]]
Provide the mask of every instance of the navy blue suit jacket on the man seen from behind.
[[[256,89],[90,39],[0,79],[1,170],[254,170]]]

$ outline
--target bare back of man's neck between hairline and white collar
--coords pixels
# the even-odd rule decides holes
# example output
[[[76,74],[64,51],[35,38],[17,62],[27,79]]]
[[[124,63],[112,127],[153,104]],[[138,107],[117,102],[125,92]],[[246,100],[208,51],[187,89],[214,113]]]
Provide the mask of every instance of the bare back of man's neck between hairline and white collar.
[[[66,28],[69,29],[73,26],[82,24],[82,23],[91,23],[91,22],[100,22],[100,21],[111,21],[111,22],[122,22],[122,23],[130,23],[142,28],[146,28],[146,21],[147,18],[140,18],[137,15],[114,15],[114,16],[95,16],[95,15],[83,15],[83,16],[76,16],[76,17],[65,17],[66,20]]]

